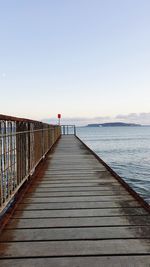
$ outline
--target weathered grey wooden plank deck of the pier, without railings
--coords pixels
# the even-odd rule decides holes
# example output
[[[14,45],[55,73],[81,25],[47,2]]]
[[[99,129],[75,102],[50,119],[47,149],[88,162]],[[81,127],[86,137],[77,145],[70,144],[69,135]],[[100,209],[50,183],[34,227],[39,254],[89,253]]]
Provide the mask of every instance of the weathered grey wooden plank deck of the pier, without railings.
[[[150,214],[62,136],[1,233],[0,266],[150,266]]]

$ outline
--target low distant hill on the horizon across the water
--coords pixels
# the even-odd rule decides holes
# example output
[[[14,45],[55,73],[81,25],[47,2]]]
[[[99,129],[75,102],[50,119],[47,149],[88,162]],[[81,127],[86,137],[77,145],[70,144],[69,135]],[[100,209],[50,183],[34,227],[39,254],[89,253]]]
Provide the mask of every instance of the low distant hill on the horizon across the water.
[[[125,122],[92,123],[86,125],[86,127],[126,127],[126,126],[137,127],[142,125],[136,123],[125,123]]]

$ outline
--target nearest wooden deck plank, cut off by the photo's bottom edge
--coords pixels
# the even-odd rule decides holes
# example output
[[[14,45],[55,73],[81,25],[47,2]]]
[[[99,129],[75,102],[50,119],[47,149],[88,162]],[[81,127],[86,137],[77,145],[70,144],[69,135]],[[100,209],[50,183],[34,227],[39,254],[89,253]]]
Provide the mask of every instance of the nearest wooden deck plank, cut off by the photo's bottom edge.
[[[46,257],[0,260],[3,267],[149,267],[150,256],[92,256],[92,257]]]

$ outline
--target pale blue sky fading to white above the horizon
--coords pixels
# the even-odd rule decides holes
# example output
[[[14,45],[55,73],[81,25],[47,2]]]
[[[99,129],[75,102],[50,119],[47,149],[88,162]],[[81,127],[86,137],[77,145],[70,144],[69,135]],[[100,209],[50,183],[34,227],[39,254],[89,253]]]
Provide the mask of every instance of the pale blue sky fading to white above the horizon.
[[[0,113],[150,124],[149,0],[0,0]]]

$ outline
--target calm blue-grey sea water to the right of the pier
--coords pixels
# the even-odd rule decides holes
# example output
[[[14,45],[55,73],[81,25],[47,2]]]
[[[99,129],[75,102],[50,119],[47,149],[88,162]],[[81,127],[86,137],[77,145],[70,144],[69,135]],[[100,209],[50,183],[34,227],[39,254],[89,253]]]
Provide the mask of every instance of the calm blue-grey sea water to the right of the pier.
[[[77,135],[150,203],[150,127],[78,127]]]

